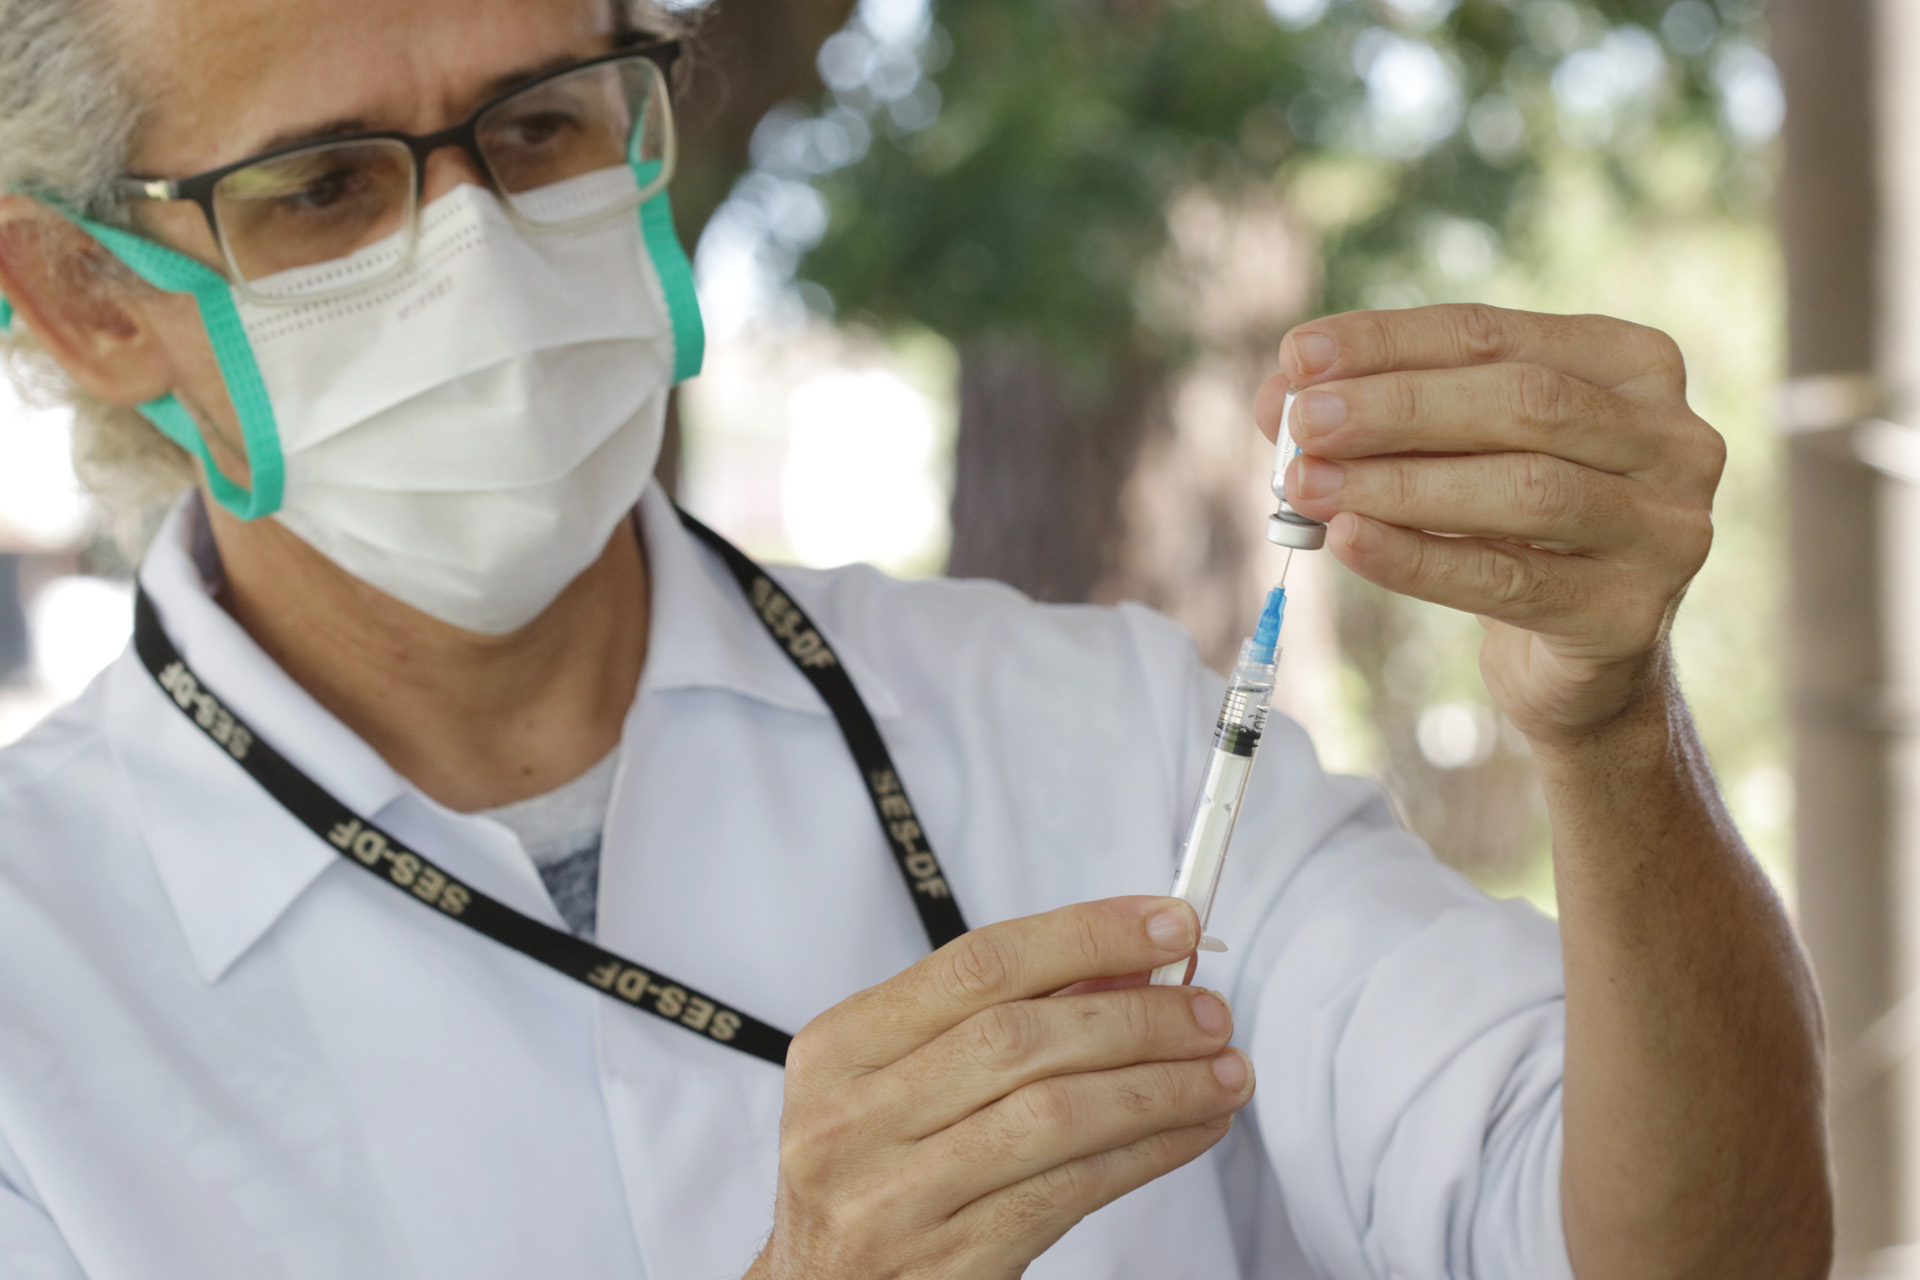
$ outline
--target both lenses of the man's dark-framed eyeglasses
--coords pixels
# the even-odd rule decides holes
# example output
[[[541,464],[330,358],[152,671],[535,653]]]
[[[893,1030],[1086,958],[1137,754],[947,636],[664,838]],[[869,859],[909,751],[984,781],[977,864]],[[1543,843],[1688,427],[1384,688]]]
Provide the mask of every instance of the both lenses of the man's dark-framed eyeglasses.
[[[666,81],[647,58],[582,67],[503,98],[474,121],[488,178],[536,226],[634,207],[659,188],[672,129]],[[651,188],[651,190],[649,190]],[[342,284],[303,271],[353,257],[367,280],[407,261],[415,234],[413,150],[397,138],[317,144],[238,169],[213,188],[228,263],[267,294]]]

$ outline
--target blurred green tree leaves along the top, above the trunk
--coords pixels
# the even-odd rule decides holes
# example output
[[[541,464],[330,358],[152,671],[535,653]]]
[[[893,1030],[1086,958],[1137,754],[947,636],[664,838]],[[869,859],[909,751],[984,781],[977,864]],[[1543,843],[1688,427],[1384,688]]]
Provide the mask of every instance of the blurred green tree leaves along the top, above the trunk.
[[[1192,186],[1288,196],[1321,236],[1329,309],[1417,301],[1379,284],[1419,274],[1448,236],[1511,255],[1544,159],[1567,148],[1628,203],[1634,155],[1672,134],[1707,142],[1713,200],[1759,190],[1720,123],[1720,81],[1759,36],[1745,0],[1271,2],[1311,21],[1260,0],[966,0],[889,42],[856,19],[822,52],[820,115],[764,127],[870,134],[826,161],[762,140],[768,169],[828,201],[799,274],[883,328],[1012,334],[1100,367],[1188,345],[1139,280]],[[912,100],[902,50],[925,81]]]

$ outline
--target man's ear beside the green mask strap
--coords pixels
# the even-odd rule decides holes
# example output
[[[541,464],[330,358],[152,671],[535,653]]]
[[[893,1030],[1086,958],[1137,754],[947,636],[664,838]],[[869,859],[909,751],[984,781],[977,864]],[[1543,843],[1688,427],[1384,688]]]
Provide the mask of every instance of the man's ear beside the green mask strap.
[[[0,196],[0,294],[84,391],[142,405],[177,386],[150,305],[161,294],[29,196]]]

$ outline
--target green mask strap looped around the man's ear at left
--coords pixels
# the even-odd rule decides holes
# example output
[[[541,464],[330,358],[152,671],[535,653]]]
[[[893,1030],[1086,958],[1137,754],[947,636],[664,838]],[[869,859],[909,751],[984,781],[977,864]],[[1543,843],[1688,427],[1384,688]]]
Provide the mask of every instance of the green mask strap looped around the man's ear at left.
[[[71,217],[71,215],[69,215]],[[227,382],[227,395],[232,399],[234,415],[240,418],[240,439],[246,443],[248,466],[253,472],[253,487],[242,487],[228,480],[213,462],[205,438],[194,415],[171,391],[159,399],[140,405],[140,413],[159,432],[198,457],[207,468],[207,487],[221,507],[242,520],[271,516],[280,509],[286,489],[286,461],[280,455],[280,432],[273,420],[273,403],[267,399],[267,384],[253,363],[253,347],[246,340],[246,326],[240,324],[240,311],[234,307],[232,290],[227,276],[196,263],[184,253],[142,240],[117,226],[106,226],[83,217],[75,223],[98,240],[106,249],[127,265],[136,276],[167,294],[192,294],[200,305],[200,320],[213,342],[213,359],[219,361],[221,378]],[[12,328],[13,307],[0,299],[0,330]]]

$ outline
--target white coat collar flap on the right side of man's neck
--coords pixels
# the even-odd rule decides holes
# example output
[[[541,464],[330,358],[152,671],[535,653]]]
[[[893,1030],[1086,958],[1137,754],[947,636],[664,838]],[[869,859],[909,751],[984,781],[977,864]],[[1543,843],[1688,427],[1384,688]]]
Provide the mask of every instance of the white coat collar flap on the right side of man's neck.
[[[641,693],[728,689],[770,706],[828,716],[828,704],[755,616],[739,581],[680,524],[672,501],[649,486],[639,499],[641,535],[653,585],[653,622]],[[789,583],[781,583],[789,585]],[[806,606],[806,604],[803,604]],[[818,604],[808,608],[818,614]],[[876,720],[900,714],[899,699],[822,618],[814,624]]]

